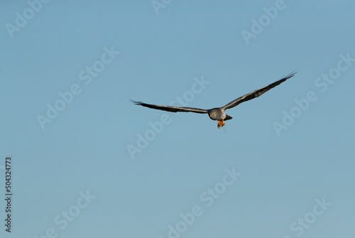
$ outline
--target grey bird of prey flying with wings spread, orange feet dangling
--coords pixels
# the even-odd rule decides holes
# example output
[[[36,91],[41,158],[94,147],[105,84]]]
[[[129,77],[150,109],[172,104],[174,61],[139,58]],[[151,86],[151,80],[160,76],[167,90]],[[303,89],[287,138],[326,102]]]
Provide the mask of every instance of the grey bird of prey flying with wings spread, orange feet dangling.
[[[236,105],[241,104],[242,102],[249,101],[251,99],[254,99],[256,97],[259,97],[261,94],[264,92],[267,92],[268,90],[271,90],[273,87],[276,87],[280,85],[280,83],[285,82],[288,80],[290,77],[293,77],[296,72],[291,72],[290,75],[287,75],[280,80],[273,82],[271,85],[268,85],[266,87],[261,87],[261,89],[255,90],[253,92],[249,92],[249,94],[245,94],[244,96],[241,96],[228,104],[224,105],[223,107],[216,107],[212,109],[200,109],[200,108],[193,108],[193,107],[174,107],[174,106],[160,106],[160,105],[154,105],[154,104],[147,104],[141,101],[134,101],[131,100],[136,105],[141,105],[143,107],[149,107],[152,109],[159,109],[163,111],[168,111],[168,112],[195,112],[195,113],[208,113],[209,118],[218,121],[217,127],[218,129],[221,128],[221,126],[225,125],[226,120],[232,119],[231,116],[226,114],[226,109],[230,109],[232,107],[236,107]]]

